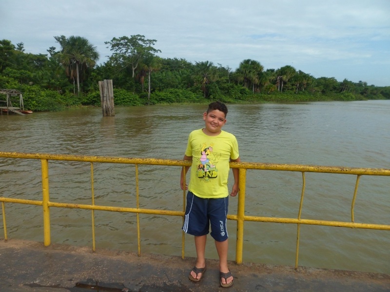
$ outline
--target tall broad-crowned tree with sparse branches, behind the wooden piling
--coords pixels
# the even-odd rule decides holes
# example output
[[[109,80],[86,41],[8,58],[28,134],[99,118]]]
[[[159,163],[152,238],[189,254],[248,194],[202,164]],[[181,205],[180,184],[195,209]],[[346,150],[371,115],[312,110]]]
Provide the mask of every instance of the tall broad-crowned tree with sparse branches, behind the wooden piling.
[[[114,37],[111,41],[106,41],[104,43],[110,45],[111,51],[114,52],[113,55],[110,56],[110,60],[114,64],[120,68],[132,66],[133,78],[138,62],[144,55],[148,53],[154,55],[161,52],[152,47],[155,45],[156,39],[145,39],[145,36],[142,35],[119,38]]]

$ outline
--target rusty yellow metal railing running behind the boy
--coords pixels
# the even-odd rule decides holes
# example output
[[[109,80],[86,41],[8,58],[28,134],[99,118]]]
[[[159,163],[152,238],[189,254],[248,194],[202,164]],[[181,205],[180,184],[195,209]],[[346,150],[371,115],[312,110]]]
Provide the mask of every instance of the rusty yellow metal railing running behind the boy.
[[[101,157],[101,156],[76,156],[76,155],[56,155],[56,154],[31,154],[31,153],[16,153],[16,152],[0,152],[0,158],[19,158],[19,159],[39,159],[41,161],[41,175],[42,175],[42,201],[34,200],[22,200],[14,198],[0,197],[2,205],[2,218],[4,238],[7,240],[7,224],[5,216],[5,203],[21,203],[40,205],[43,208],[43,233],[44,233],[44,245],[48,246],[51,242],[50,237],[50,207],[60,208],[75,208],[75,209],[87,209],[92,211],[92,237],[93,237],[93,250],[95,251],[95,210],[101,211],[114,211],[114,212],[129,212],[137,214],[137,242],[138,242],[138,254],[140,254],[140,228],[139,228],[139,214],[154,214],[154,215],[168,215],[168,216],[180,216],[184,218],[185,211],[185,193],[183,190],[183,210],[156,210],[156,209],[144,209],[139,208],[139,181],[138,181],[138,165],[167,165],[167,166],[190,166],[189,161],[184,160],[168,160],[168,159],[142,159],[142,158],[120,158],[120,157]],[[92,188],[92,204],[75,204],[75,203],[61,203],[50,201],[49,196],[49,160],[58,161],[76,161],[76,162],[89,162],[91,164],[91,188]],[[136,166],[136,207],[114,207],[96,205],[94,198],[94,163],[114,163],[114,164],[134,164]],[[363,229],[376,229],[376,230],[388,230],[390,231],[390,225],[386,224],[367,224],[354,222],[354,204],[357,195],[357,189],[359,180],[362,175],[370,176],[388,176],[390,177],[390,169],[383,168],[346,168],[336,166],[312,166],[312,165],[298,165],[298,164],[263,164],[263,163],[245,163],[236,162],[230,164],[231,168],[239,169],[239,196],[236,215],[228,215],[228,219],[237,221],[237,235],[236,235],[236,263],[242,263],[243,254],[243,240],[244,240],[244,222],[245,221],[258,221],[258,222],[273,222],[273,223],[292,223],[297,224],[297,236],[296,236],[296,254],[295,254],[295,268],[298,267],[298,255],[299,255],[299,239],[300,239],[300,225],[322,225],[322,226],[334,226],[334,227],[349,227],[349,228],[363,228]],[[297,218],[275,218],[275,217],[258,217],[245,215],[245,194],[246,194],[246,171],[247,169],[257,170],[278,170],[278,171],[295,171],[302,173],[302,192],[299,204],[299,211]],[[346,221],[328,221],[328,220],[315,220],[315,219],[301,219],[303,199],[305,195],[306,187],[306,172],[316,173],[334,173],[334,174],[349,174],[356,175],[355,189],[351,202],[351,222]],[[184,233],[182,234],[182,257],[184,258]]]

